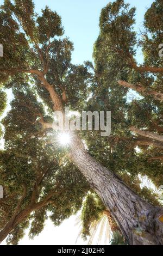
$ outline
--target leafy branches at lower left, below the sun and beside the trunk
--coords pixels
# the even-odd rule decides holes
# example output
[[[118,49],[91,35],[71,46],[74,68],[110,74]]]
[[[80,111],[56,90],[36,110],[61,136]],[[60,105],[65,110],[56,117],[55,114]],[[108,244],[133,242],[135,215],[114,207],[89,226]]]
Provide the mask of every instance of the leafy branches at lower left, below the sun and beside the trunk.
[[[88,185],[72,163],[66,161],[62,167],[58,159],[64,153],[55,144],[46,144],[42,131],[33,126],[35,109],[43,111],[34,90],[27,87],[16,92],[11,106],[3,120],[5,150],[1,151],[0,182],[5,197],[0,202],[0,237],[2,241],[9,234],[8,243],[16,245],[27,227],[30,237],[38,235],[48,215],[59,225],[76,213]],[[26,115],[31,119],[26,120]]]

